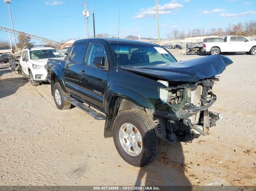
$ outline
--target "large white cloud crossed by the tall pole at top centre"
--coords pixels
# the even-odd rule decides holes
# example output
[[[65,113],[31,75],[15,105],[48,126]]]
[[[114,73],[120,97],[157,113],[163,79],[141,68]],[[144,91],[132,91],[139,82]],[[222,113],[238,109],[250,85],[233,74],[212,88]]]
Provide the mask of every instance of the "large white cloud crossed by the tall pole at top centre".
[[[179,3],[168,3],[165,5],[158,5],[158,15],[162,14],[170,14],[171,10],[178,9],[183,7],[183,5]],[[143,8],[138,13],[136,13],[136,16],[133,17],[134,19],[140,19],[140,18],[155,18],[156,17],[156,7],[149,7],[147,9]]]

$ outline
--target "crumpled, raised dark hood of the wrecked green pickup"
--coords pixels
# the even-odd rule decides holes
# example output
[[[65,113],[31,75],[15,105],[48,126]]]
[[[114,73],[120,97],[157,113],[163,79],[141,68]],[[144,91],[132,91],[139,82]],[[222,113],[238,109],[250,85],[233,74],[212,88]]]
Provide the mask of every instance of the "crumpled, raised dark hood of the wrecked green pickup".
[[[120,67],[138,74],[150,75],[168,81],[194,81],[218,75],[226,66],[232,64],[227,56],[212,55],[198,59],[171,62],[152,66]]]

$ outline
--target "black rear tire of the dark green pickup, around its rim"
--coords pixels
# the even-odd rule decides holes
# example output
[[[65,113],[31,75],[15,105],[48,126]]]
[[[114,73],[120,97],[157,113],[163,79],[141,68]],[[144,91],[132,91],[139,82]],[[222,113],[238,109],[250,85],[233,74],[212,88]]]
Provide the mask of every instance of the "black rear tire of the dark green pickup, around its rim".
[[[60,104],[59,104],[58,100],[56,100],[56,95],[55,95],[56,91],[55,90],[58,90],[58,92],[60,94],[60,100],[61,100]],[[59,83],[55,83],[53,85],[53,98],[54,98],[54,102],[55,102],[55,104],[56,104],[56,106],[58,107],[59,110],[67,110],[71,107],[71,103],[68,102],[67,100],[63,99],[64,95],[69,95],[69,94],[67,94],[66,92],[64,92],[62,90]]]

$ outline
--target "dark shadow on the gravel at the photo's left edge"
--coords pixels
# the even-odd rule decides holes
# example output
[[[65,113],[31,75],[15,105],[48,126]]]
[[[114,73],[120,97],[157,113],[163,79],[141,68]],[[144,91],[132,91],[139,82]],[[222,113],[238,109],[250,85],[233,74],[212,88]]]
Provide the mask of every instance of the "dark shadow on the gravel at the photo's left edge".
[[[23,77],[1,79],[0,99],[15,94],[15,92],[26,83],[28,83],[28,80],[24,80]]]

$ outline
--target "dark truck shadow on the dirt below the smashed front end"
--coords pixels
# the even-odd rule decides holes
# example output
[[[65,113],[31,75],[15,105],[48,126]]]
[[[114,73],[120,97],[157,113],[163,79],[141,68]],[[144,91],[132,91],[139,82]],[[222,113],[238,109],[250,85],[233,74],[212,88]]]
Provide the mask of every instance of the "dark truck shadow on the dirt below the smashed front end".
[[[191,183],[185,176],[185,163],[181,143],[162,145],[160,156],[151,164],[141,167],[135,186],[186,186],[191,190]],[[162,190],[162,189],[161,189]]]

